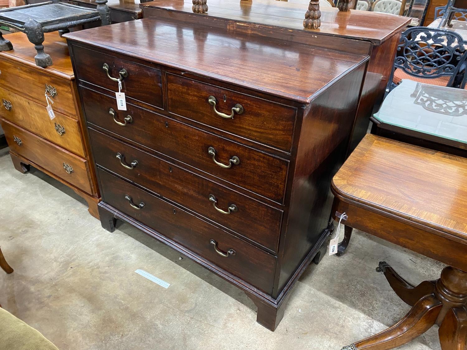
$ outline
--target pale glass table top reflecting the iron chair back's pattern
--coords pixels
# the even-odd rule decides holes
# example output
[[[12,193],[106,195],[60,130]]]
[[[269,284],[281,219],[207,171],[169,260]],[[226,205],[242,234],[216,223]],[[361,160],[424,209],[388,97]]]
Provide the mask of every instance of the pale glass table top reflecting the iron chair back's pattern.
[[[467,90],[403,79],[374,117],[385,124],[467,144]]]

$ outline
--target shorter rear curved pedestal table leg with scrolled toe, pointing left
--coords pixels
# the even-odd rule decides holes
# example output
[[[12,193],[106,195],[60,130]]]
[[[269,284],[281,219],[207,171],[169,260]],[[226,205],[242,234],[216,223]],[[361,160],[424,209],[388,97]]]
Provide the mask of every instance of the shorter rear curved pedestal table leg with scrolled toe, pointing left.
[[[384,273],[391,288],[396,292],[399,298],[410,306],[415,305],[415,303],[424,296],[434,292],[436,281],[423,281],[415,287],[399,276],[386,261],[381,261],[379,266],[376,267],[376,271]]]

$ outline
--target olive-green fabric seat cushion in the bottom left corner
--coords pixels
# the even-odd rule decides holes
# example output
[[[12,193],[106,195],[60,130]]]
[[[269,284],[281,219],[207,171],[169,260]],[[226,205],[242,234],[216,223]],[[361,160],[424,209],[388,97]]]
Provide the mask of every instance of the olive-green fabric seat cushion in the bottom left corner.
[[[41,333],[0,308],[0,350],[58,350]]]

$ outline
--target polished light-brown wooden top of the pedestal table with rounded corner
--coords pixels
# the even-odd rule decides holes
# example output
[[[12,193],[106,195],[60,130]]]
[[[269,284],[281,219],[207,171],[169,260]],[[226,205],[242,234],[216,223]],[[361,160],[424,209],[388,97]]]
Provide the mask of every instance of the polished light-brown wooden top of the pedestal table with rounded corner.
[[[466,158],[367,134],[332,188],[344,201],[467,240]]]

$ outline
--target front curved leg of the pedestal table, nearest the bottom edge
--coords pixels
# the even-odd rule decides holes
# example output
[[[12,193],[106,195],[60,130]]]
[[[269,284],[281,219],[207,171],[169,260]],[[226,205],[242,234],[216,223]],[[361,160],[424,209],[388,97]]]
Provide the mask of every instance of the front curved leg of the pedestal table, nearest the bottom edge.
[[[401,346],[425,333],[436,322],[442,303],[433,294],[419,300],[394,326],[342,350],[387,350]],[[444,350],[444,349],[443,349]]]

